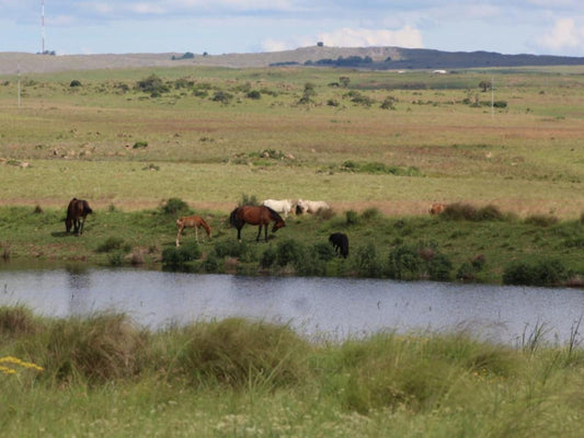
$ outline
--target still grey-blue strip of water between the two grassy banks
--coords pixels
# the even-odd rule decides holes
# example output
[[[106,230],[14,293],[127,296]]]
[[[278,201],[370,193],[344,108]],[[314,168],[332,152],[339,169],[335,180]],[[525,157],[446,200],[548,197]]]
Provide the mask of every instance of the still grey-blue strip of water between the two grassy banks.
[[[15,303],[50,316],[125,312],[153,330],[243,316],[286,323],[310,338],[470,330],[481,338],[520,345],[538,327],[548,342],[569,342],[584,314],[584,291],[84,266],[0,269],[0,306]],[[576,339],[582,341],[580,333]]]

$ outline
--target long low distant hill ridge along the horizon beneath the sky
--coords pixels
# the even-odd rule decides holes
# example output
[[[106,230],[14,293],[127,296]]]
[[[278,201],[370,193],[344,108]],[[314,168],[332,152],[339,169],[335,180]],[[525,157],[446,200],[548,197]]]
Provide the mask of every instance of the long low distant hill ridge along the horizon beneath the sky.
[[[191,54],[191,53],[188,53]],[[184,54],[34,55],[0,53],[0,74],[57,72],[94,69],[172,66],[231,68],[312,65],[365,69],[457,69],[520,66],[584,66],[584,57],[502,55],[490,51],[440,51],[400,47],[311,46],[295,50],[257,54],[224,54],[184,57]]]

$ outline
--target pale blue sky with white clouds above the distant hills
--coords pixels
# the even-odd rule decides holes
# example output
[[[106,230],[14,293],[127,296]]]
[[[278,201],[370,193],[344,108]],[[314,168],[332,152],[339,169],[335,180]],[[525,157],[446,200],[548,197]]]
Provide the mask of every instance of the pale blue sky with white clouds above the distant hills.
[[[42,0],[0,0],[0,51],[42,49]],[[328,46],[584,56],[584,0],[45,0],[57,55]]]

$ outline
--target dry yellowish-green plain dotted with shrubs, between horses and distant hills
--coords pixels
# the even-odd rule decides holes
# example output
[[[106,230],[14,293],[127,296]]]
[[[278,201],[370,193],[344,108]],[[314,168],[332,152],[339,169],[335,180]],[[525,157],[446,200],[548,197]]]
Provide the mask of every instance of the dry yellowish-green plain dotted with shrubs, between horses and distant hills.
[[[245,193],[390,215],[425,214],[437,200],[574,219],[584,210],[581,73],[76,71],[22,78],[20,108],[16,78],[5,77],[1,203],[56,207],[77,196],[139,209],[176,196],[228,211]],[[136,90],[151,74],[168,91]],[[478,87],[492,78],[507,105],[493,113]],[[351,172],[347,162],[416,173]]]

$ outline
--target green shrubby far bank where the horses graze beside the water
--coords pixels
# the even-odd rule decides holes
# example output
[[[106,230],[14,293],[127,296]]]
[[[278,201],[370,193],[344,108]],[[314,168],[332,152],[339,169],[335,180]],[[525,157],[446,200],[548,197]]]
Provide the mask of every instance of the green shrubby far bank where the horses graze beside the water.
[[[196,212],[213,239],[186,229],[175,247],[180,216],[192,214],[178,198],[150,210],[111,206],[88,216],[81,237],[65,232],[62,210],[0,207],[0,254],[5,261],[82,261],[199,273],[357,276],[445,281],[581,285],[584,222],[551,215],[518,218],[496,207],[451,205],[439,216],[393,217],[375,208],[289,216],[286,227],[255,242],[245,226],[242,242],[221,211]],[[335,256],[328,238],[348,235],[350,255]],[[9,267],[10,264],[7,265]]]

